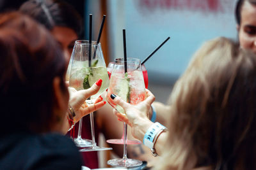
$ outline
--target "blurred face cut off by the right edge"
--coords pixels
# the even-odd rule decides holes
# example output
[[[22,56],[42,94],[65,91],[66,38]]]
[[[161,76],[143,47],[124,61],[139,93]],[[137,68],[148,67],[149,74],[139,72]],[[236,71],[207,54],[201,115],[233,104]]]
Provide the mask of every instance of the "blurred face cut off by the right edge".
[[[241,23],[238,25],[241,48],[256,53],[256,5],[245,1],[241,8]]]

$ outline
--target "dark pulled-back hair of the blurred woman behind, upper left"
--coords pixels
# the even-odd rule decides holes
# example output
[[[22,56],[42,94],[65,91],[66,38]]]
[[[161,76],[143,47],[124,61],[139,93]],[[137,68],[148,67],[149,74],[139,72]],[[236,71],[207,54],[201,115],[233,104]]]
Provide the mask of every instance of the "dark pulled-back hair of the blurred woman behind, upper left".
[[[20,11],[26,13],[47,29],[54,26],[68,27],[77,36],[82,33],[82,19],[70,4],[61,0],[30,0],[20,6]]]

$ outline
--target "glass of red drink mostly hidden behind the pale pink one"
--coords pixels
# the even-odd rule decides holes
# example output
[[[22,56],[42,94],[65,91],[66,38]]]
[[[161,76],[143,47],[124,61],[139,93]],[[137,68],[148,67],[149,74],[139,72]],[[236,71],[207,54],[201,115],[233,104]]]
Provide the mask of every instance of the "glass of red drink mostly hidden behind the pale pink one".
[[[109,78],[111,78],[111,73],[112,73],[114,64],[115,64],[115,62],[109,62],[109,64],[108,64],[107,71],[108,71]],[[145,87],[147,89],[148,88],[148,73],[147,73],[147,69],[144,64],[141,65],[141,71],[143,73],[144,83],[145,83]],[[124,124],[124,126],[125,126],[125,124]],[[124,145],[124,131],[123,131],[121,139],[108,139],[106,142],[111,143],[111,144]],[[127,145],[138,145],[138,144],[141,144],[141,141],[127,139],[126,144]]]

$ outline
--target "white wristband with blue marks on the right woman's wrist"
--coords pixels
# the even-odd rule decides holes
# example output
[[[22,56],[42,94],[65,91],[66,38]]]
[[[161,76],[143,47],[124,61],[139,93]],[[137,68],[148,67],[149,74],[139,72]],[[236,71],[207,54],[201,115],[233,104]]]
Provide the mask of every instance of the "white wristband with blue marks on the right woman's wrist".
[[[165,131],[166,127],[164,127],[163,125],[159,124],[158,122],[152,124],[147,132],[145,133],[145,136],[143,138],[143,143],[145,146],[148,146],[148,148],[150,148],[152,155],[154,157],[157,156],[156,150],[154,148],[154,145],[156,143],[156,139],[158,138],[158,136],[161,134],[161,132]]]

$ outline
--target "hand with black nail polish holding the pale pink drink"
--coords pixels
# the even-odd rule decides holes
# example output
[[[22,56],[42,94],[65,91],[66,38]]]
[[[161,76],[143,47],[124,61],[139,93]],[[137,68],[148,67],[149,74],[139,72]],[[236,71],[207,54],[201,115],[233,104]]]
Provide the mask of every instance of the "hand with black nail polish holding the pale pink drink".
[[[141,131],[142,129],[148,128],[151,124],[153,124],[148,119],[148,112],[150,109],[150,105],[155,100],[155,97],[149,90],[146,89],[146,92],[147,92],[147,98],[145,99],[145,101],[142,101],[141,103],[136,105],[126,103],[121,99],[121,97],[115,96],[115,94],[111,96],[113,103],[121,106],[126,113],[126,115],[124,115],[114,110],[115,115],[118,117],[118,119],[122,120],[126,124],[129,124],[132,127],[132,136],[140,140],[141,140],[141,135],[143,139],[143,136],[145,133],[140,134],[139,131]],[[147,129],[145,131],[147,131]]]

